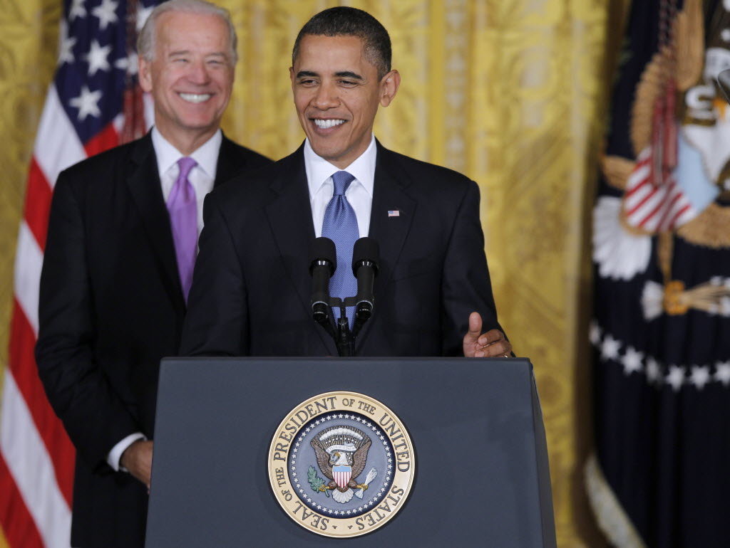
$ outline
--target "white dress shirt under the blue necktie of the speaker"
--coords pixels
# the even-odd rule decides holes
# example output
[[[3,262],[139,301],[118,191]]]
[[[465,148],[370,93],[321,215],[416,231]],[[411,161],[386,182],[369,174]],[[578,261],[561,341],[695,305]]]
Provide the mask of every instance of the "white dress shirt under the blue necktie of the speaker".
[[[322,235],[324,212],[329,200],[334,194],[332,174],[337,171],[347,171],[355,180],[345,191],[345,197],[355,210],[358,219],[360,238],[368,235],[370,230],[370,208],[372,208],[372,189],[375,181],[375,160],[377,146],[375,137],[370,138],[370,144],[347,168],[340,169],[332,165],[323,157],[318,156],[310,145],[309,139],[304,142],[304,169],[307,171],[307,184],[310,188],[310,205],[312,206],[312,222],[315,225],[315,236]]]

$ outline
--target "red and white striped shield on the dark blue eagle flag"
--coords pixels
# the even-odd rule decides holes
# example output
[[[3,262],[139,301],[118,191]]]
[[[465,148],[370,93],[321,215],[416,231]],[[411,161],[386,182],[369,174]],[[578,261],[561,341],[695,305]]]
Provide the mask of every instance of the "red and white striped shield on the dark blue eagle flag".
[[[697,215],[673,176],[663,184],[651,181],[651,147],[647,146],[637,158],[637,165],[626,182],[623,212],[626,222],[645,232],[675,230]]]

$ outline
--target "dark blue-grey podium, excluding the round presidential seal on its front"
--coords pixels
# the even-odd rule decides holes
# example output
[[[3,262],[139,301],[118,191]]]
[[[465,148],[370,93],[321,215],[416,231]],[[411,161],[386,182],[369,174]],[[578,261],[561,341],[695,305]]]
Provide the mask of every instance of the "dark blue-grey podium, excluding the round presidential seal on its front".
[[[371,396],[410,434],[415,477],[392,519],[348,539],[288,516],[269,447],[301,402]],[[333,503],[334,504],[334,503]],[[161,364],[148,548],[555,547],[548,453],[526,359],[174,358]]]

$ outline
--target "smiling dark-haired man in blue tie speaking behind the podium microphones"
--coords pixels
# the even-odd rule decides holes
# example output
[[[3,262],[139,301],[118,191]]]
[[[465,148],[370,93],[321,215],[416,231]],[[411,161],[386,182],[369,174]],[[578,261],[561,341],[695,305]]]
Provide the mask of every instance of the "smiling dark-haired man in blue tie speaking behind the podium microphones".
[[[357,356],[509,355],[477,185],[372,136],[378,107],[391,103],[400,83],[385,28],[360,9],[327,9],[301,29],[292,58],[307,140],[251,173],[245,192],[231,184],[207,197],[181,353],[336,354],[312,321],[308,244],[319,235],[337,240],[335,275],[349,279],[330,289],[344,284],[350,289],[337,296],[347,297],[354,281],[348,255],[356,238],[369,235],[380,243],[380,273]]]

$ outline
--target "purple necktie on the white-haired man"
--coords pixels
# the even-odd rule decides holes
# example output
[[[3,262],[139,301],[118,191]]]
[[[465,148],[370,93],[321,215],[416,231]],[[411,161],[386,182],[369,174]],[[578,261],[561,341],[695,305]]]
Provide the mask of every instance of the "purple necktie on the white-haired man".
[[[180,273],[185,302],[188,302],[198,247],[198,208],[195,189],[188,181],[188,175],[197,163],[192,158],[184,157],[177,160],[177,165],[180,167],[180,174],[167,198],[167,211],[170,214],[172,239],[175,243],[177,271]]]

